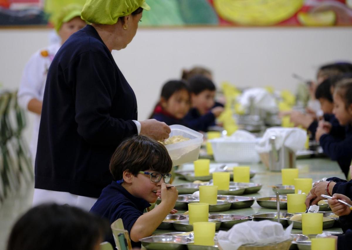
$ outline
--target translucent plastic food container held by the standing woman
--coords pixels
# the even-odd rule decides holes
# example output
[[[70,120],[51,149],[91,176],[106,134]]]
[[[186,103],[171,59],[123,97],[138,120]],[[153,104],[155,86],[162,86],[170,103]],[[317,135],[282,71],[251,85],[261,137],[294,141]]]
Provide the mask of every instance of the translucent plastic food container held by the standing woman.
[[[171,125],[169,137],[182,135],[189,138],[188,141],[166,145],[174,166],[195,161],[199,157],[200,146],[203,142],[203,134],[182,125]]]

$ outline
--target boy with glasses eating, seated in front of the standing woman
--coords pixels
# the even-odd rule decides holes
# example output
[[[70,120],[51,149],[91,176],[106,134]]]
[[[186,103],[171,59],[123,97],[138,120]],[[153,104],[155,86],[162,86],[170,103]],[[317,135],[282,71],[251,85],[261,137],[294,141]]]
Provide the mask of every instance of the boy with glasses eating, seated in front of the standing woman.
[[[177,212],[173,208],[178,191],[166,188],[171,179],[171,158],[156,140],[135,135],[117,147],[109,168],[114,181],[102,190],[90,211],[110,223],[121,218],[132,246],[140,247],[139,239],[150,236],[170,212]],[[143,214],[158,197],[161,203]],[[108,241],[115,245],[112,234]]]

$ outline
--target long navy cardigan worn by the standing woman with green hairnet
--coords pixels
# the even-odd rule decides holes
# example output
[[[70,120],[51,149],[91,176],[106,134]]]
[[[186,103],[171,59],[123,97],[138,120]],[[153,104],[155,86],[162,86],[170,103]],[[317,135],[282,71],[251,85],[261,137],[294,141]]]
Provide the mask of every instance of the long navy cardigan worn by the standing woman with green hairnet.
[[[137,101],[91,25],[52,61],[40,119],[35,188],[98,198],[113,180],[109,161],[137,134]]]

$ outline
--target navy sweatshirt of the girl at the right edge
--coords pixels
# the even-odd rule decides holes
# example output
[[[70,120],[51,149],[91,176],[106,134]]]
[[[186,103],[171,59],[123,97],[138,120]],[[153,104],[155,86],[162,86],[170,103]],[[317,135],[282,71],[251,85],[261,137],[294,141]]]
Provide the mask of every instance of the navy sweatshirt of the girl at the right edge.
[[[323,134],[319,142],[324,153],[338,162],[342,172],[347,177],[352,160],[352,126],[348,125],[346,127],[344,140],[338,140],[330,134]]]

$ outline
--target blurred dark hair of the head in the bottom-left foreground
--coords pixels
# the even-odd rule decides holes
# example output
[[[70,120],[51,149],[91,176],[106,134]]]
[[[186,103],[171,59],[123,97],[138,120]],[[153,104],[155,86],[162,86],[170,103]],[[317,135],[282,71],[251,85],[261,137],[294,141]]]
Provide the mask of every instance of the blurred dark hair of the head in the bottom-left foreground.
[[[45,204],[15,223],[7,250],[93,250],[109,231],[107,221],[80,208]]]

